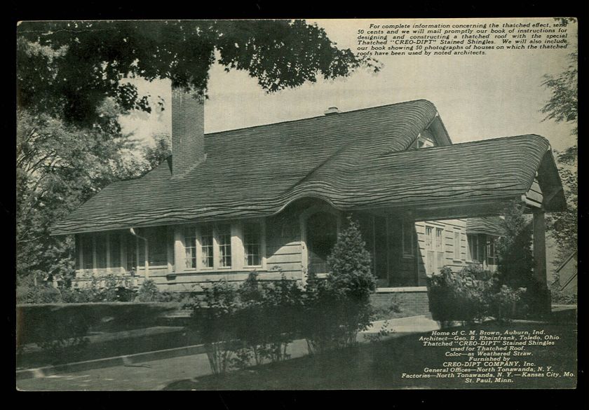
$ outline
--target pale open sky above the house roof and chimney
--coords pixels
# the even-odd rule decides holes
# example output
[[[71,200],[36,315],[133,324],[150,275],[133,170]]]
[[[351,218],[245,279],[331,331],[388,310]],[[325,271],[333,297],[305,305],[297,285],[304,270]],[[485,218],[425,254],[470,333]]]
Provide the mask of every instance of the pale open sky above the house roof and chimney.
[[[470,19],[473,22],[554,22],[551,18]],[[358,29],[370,23],[391,24],[434,20],[308,20],[325,29],[339,48],[356,51]],[[438,21],[440,22],[440,21]],[[445,23],[464,22],[445,20]],[[576,50],[576,24],[569,25],[567,50],[494,50],[487,55],[384,56],[378,73],[359,69],[347,78],[306,83],[268,94],[244,71],[210,69],[205,102],[205,132],[231,130],[278,121],[323,115],[327,107],[340,111],[376,107],[424,98],[435,104],[452,141],[468,142],[509,135],[539,134],[553,149],[574,144],[571,126],[546,120],[540,109],[550,98],[541,84],[545,74],[558,74]],[[169,81],[133,80],[140,93],[170,101]],[[121,118],[124,132],[151,143],[151,135],[171,132],[170,110]]]

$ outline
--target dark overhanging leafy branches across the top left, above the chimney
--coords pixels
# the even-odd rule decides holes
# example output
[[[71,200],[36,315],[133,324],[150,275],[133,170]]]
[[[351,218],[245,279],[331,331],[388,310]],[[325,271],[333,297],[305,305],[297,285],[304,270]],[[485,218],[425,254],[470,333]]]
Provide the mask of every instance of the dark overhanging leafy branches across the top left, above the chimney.
[[[348,76],[360,66],[379,69],[304,20],[22,22],[18,103],[66,123],[118,129],[114,116],[97,112],[105,97],[123,113],[151,111],[148,96],[123,78],[169,78],[205,95],[215,60],[226,71],[248,71],[268,92]]]

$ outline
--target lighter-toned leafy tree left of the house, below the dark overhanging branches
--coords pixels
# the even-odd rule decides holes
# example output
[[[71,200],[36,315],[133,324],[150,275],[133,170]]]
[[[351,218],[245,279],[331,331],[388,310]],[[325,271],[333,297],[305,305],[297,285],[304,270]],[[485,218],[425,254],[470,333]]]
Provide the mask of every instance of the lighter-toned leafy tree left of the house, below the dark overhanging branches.
[[[114,179],[132,176],[121,135],[81,130],[46,114],[17,115],[16,246],[18,276],[72,273],[73,240],[50,225]]]

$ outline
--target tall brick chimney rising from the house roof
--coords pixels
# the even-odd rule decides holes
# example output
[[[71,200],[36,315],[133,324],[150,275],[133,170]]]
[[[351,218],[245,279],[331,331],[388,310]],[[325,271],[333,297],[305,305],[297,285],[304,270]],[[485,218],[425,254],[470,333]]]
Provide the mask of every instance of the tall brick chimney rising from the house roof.
[[[200,98],[172,87],[172,177],[205,160],[205,109]]]

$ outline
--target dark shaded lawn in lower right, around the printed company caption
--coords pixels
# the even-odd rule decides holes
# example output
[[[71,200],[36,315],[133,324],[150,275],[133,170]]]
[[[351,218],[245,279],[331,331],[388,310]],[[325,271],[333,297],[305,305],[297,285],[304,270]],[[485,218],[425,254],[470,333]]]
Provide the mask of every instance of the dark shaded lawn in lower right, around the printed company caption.
[[[168,390],[314,390],[314,389],[438,389],[438,388],[574,388],[576,386],[576,325],[520,322],[489,322],[472,328],[488,332],[506,329],[532,331],[560,337],[555,346],[528,346],[526,357],[536,366],[551,366],[560,374],[571,371],[575,377],[517,377],[513,383],[466,383],[463,378],[402,378],[401,374],[424,374],[424,368],[442,367],[445,347],[424,347],[420,336],[412,334],[356,348],[338,350],[316,357],[300,357],[233,371],[224,377],[204,376],[170,383]],[[511,357],[510,360],[522,360]]]

